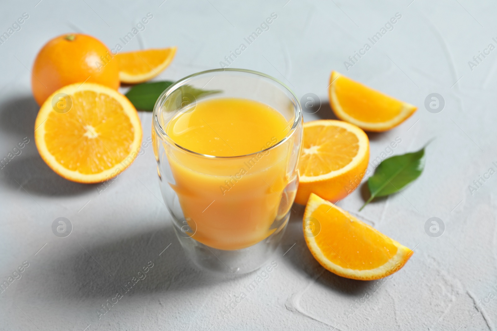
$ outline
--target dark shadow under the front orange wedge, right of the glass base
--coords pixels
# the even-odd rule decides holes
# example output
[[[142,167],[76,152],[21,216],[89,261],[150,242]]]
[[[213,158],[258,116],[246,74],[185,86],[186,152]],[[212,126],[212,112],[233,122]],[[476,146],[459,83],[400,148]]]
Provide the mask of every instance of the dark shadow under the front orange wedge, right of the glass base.
[[[284,258],[292,263],[296,270],[306,274],[310,279],[317,277],[317,283],[334,292],[350,296],[363,295],[372,282],[340,277],[324,269],[312,256],[304,240],[302,215],[305,206],[294,203],[292,208],[296,212],[292,212],[283,238],[282,251],[285,252],[294,243],[296,244],[285,254]]]

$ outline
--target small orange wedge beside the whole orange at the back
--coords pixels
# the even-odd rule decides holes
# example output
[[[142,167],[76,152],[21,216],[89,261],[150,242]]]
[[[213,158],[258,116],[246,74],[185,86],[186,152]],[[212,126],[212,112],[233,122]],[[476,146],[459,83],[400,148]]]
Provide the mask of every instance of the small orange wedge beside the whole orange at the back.
[[[119,79],[123,83],[142,83],[159,75],[176,54],[176,47],[119,53]]]

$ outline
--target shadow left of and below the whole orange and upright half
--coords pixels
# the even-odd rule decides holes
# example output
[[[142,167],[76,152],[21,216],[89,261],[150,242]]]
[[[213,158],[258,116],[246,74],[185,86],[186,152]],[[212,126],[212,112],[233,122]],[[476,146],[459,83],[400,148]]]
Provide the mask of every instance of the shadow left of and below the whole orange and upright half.
[[[19,142],[23,141],[24,137],[29,139],[25,146],[19,149],[19,155],[2,164],[0,171],[3,176],[0,177],[0,182],[13,189],[20,189],[22,185],[28,193],[37,195],[68,196],[95,190],[94,185],[78,184],[60,177],[42,160],[34,142],[34,123],[39,108],[31,95],[0,104],[0,131],[15,134],[19,137]],[[10,150],[14,147],[16,145],[12,145]],[[0,159],[6,157],[10,150]]]

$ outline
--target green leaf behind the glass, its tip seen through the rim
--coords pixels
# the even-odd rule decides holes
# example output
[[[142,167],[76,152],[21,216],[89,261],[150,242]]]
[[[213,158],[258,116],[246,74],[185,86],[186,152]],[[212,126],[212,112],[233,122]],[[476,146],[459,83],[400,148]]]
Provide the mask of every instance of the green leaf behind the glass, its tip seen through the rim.
[[[126,97],[128,97],[136,109],[151,112],[154,110],[154,105],[162,92],[172,84],[174,84],[172,81],[138,84],[133,86],[128,93],[126,93]],[[171,94],[169,100],[172,100],[173,102],[179,100],[179,105],[184,107],[186,104],[195,102],[203,96],[221,92],[221,90],[203,90],[191,85],[183,85]]]

